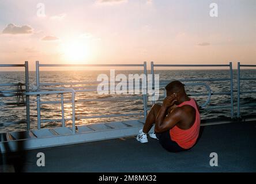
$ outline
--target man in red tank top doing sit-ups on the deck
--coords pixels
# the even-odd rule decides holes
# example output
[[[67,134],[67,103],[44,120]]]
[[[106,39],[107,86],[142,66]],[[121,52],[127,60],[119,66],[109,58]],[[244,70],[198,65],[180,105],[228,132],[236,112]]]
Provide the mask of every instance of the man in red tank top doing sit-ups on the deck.
[[[147,143],[147,133],[155,124],[156,134],[149,136],[159,139],[165,150],[179,152],[193,147],[199,135],[200,114],[197,102],[187,97],[184,86],[173,81],[165,87],[167,97],[163,105],[152,106],[143,129],[138,133],[138,141]]]

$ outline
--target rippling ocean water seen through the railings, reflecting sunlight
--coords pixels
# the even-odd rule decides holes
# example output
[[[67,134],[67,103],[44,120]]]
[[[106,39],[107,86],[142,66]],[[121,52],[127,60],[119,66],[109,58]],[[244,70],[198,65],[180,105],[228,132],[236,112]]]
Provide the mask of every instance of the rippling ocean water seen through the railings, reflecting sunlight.
[[[99,74],[110,75],[110,71],[41,71],[40,82],[92,82],[96,81]],[[115,74],[142,74],[142,71],[129,71],[119,70]],[[171,79],[191,79],[191,78],[228,78],[229,70],[156,70],[155,74],[159,74],[160,81]],[[35,72],[29,72],[29,82],[31,89],[35,85]],[[256,78],[255,70],[241,70],[242,77]],[[20,71],[0,71],[0,83],[24,83],[24,72]],[[118,82],[116,82],[118,83]],[[229,81],[216,81],[205,82],[210,86],[213,93],[228,92],[230,90]],[[85,85],[76,85],[75,87]],[[94,85],[95,86],[95,85]],[[47,86],[49,87],[49,86]],[[61,86],[54,86],[61,87]],[[66,85],[65,87],[74,87]],[[0,90],[13,90],[17,87],[0,87]],[[236,114],[236,93],[237,81],[236,71],[234,70],[234,113]],[[255,81],[241,81],[241,91],[256,90]],[[186,86],[186,91],[190,93],[208,93],[204,86],[190,87]],[[163,95],[163,90],[160,90],[160,95]],[[130,97],[129,94],[108,94],[99,95],[97,92],[82,92],[76,94],[76,99],[98,99],[106,97]],[[70,100],[71,95],[65,94],[65,100]],[[193,97],[201,105],[206,101],[206,96]],[[60,101],[60,95],[44,95],[41,101]],[[159,103],[161,103],[161,100]],[[0,97],[0,102],[16,102],[17,97]],[[241,104],[256,103],[256,93],[240,95]],[[148,103],[148,108],[152,105]],[[210,103],[207,106],[216,105],[230,105],[230,95],[212,95]],[[71,103],[65,103],[65,118],[71,117]],[[36,112],[36,97],[31,97],[31,128],[37,128],[37,112]],[[126,113],[139,113],[143,112],[142,99],[131,99],[125,101],[104,101],[104,102],[77,102],[76,103],[76,116],[98,116],[106,114],[126,114]],[[241,109],[242,116],[254,114],[256,115],[255,107]],[[22,131],[26,129],[26,110],[25,106],[9,105],[0,106],[0,132],[7,131]],[[60,119],[61,118],[61,104],[44,104],[41,108],[42,119]],[[220,118],[230,117],[230,109],[214,109],[214,110],[201,110],[201,118]],[[111,118],[94,118],[77,120],[76,125],[92,124],[110,121],[123,121],[142,118],[142,116],[130,117],[111,117]],[[66,125],[70,125],[71,121],[66,121]],[[47,122],[42,123],[42,128],[45,127],[59,127],[61,122]]]

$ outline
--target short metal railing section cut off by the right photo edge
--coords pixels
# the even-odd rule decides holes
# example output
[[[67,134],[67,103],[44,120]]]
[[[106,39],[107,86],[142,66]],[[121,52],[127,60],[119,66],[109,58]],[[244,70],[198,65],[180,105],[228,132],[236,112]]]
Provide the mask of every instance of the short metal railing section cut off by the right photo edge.
[[[240,91],[240,81],[253,81],[256,80],[256,78],[242,78],[240,77],[240,68],[241,67],[256,67],[256,65],[253,64],[240,64],[240,62],[238,62],[238,112],[236,114],[236,116],[238,118],[240,118],[240,108],[241,107],[251,107],[251,106],[256,106],[256,104],[251,103],[251,104],[244,104],[244,105],[240,105],[240,94],[246,94],[246,93],[256,93],[256,90],[250,90],[250,91]]]

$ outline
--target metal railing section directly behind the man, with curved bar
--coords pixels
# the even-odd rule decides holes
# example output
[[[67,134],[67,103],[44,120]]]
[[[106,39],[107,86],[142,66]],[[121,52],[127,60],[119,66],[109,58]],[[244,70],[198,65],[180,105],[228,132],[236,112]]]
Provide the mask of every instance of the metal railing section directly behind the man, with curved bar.
[[[201,82],[201,83],[186,83],[186,86],[205,86],[208,90],[208,93],[196,93],[196,94],[190,94],[191,96],[208,96],[208,99],[206,102],[201,105],[202,109],[231,109],[231,118],[234,117],[234,101],[233,101],[233,71],[232,71],[232,62],[229,62],[229,64],[154,64],[151,62],[151,74],[153,75],[152,78],[154,79],[155,75],[155,68],[156,67],[229,67],[229,78],[193,78],[193,79],[176,79],[180,82]],[[171,81],[174,81],[171,80]],[[160,87],[164,87],[171,81],[160,81]],[[213,93],[210,90],[210,87],[206,85],[206,83],[202,82],[214,82],[214,81],[229,81],[230,82],[230,91],[228,92],[218,92]],[[154,81],[153,81],[154,85]],[[214,106],[214,107],[208,107],[205,108],[205,106],[210,102],[211,95],[230,95],[230,104],[231,105],[221,105],[221,106]],[[153,101],[153,104],[155,101]]]

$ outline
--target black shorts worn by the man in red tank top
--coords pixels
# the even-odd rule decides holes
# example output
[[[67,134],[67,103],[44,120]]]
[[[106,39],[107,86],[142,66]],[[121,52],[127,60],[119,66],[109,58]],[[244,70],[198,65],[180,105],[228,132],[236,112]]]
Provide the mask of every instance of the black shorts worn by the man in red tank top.
[[[161,144],[161,146],[169,152],[180,152],[189,150],[180,147],[178,143],[171,140],[170,131],[156,133],[156,137],[157,139],[159,139],[159,143]]]

